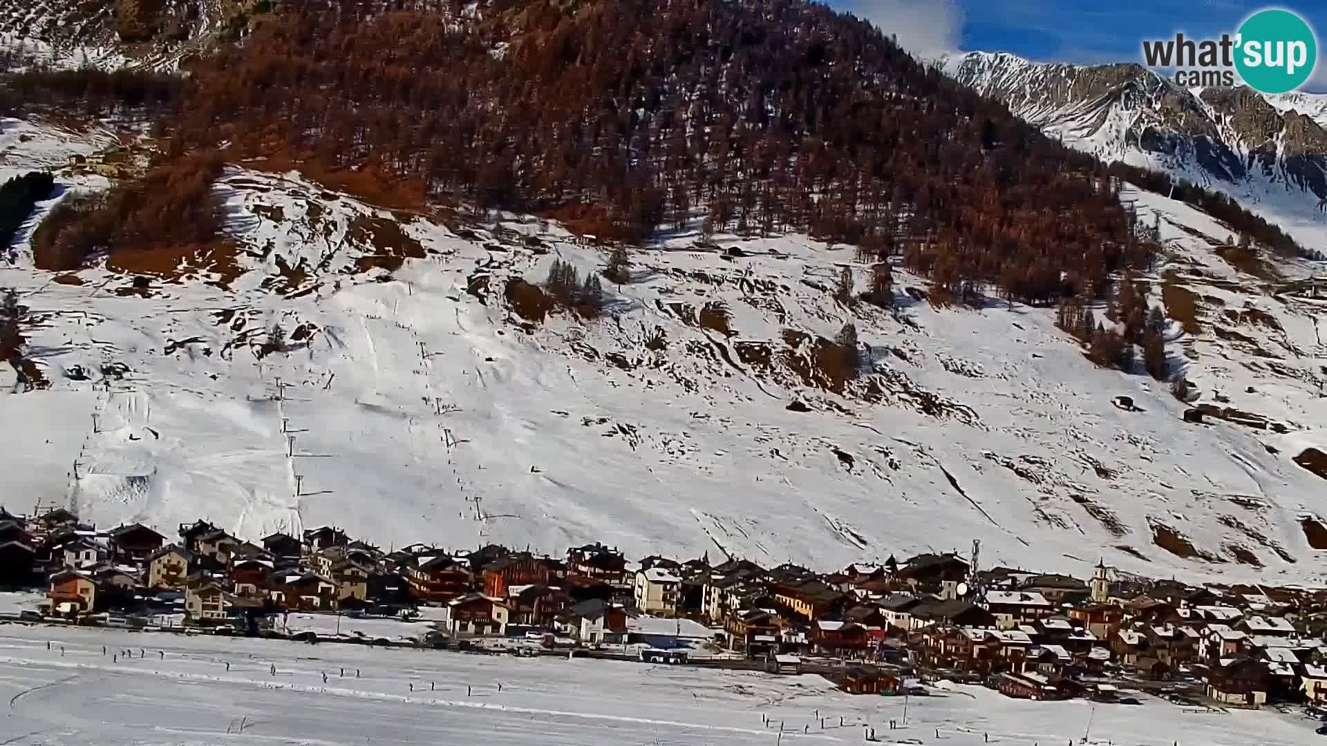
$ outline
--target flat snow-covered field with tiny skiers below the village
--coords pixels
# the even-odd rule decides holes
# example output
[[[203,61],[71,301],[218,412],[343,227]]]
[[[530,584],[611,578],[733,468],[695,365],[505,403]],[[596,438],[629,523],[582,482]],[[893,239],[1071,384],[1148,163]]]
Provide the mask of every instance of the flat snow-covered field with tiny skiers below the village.
[[[904,698],[852,697],[817,676],[24,625],[0,627],[0,743],[11,746],[811,745],[861,743],[865,725],[885,743],[946,746],[1078,743],[1084,733],[1145,746],[1320,738],[1275,711],[1032,702],[981,688],[910,697],[908,726],[888,731]]]

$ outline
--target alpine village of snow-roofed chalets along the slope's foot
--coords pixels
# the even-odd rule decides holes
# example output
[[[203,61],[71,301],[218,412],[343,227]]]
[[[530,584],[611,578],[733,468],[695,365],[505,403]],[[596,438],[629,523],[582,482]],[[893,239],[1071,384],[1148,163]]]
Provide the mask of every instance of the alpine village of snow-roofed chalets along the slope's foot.
[[[45,589],[0,624],[402,644],[350,631],[378,620],[418,646],[820,673],[852,694],[924,694],[909,682],[949,678],[1031,700],[1327,704],[1324,591],[1192,587],[1100,563],[1088,579],[979,568],[979,551],[821,573],[739,558],[629,563],[597,543],[561,558],[384,551],[337,527],[255,544],[198,520],[171,540],[64,508],[0,508],[0,588]]]

